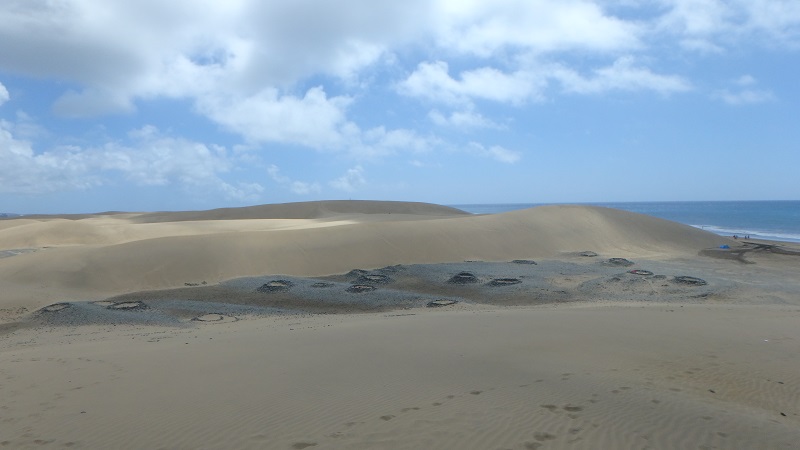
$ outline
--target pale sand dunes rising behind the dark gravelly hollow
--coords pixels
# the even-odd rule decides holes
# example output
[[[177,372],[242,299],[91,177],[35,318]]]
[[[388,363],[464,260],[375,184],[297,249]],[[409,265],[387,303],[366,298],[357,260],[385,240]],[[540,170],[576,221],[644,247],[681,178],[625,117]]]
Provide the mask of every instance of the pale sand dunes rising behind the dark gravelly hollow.
[[[283,217],[259,218],[277,215]],[[581,250],[693,256],[728,241],[672,222],[586,206],[472,216],[425,204],[335,202],[172,213],[174,222],[168,216],[0,222],[0,249],[39,250],[0,259],[4,307],[36,308],[58,299],[98,299],[195,280],[324,275],[401,263],[554,258]]]

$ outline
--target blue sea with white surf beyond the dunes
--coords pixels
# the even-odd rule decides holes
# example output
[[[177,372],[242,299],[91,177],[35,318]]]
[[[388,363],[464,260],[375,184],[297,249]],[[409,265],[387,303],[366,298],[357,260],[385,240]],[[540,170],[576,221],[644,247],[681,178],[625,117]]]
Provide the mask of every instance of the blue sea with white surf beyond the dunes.
[[[680,222],[723,236],[800,242],[800,201],[586,203]],[[541,204],[450,205],[473,214],[495,214]]]

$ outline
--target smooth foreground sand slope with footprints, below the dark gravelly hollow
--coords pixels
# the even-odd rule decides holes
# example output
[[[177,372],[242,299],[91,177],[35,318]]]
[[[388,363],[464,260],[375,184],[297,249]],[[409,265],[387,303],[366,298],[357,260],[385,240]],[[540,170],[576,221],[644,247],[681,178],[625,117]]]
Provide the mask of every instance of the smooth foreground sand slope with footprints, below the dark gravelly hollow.
[[[404,314],[22,330],[0,339],[0,445],[789,449],[800,440],[797,307]]]

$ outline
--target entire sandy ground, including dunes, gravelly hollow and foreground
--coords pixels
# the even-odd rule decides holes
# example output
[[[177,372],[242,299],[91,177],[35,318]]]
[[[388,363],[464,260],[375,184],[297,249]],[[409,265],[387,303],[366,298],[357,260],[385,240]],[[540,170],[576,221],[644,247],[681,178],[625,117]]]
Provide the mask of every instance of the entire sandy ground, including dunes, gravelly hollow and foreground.
[[[0,220],[0,447],[796,448],[798,269],[586,206]]]

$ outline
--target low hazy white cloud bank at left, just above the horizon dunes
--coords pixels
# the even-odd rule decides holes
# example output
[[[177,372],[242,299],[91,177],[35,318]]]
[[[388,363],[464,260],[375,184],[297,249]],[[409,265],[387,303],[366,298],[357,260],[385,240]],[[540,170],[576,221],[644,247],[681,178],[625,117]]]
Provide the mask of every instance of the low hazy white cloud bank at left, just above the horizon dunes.
[[[83,190],[113,184],[119,177],[139,186],[210,189],[240,201],[263,192],[255,183],[228,183],[221,178],[232,166],[225,148],[163,136],[154,127],[132,131],[130,143],[58,146],[44,152],[16,139],[12,129],[9,122],[0,122],[0,192]]]

